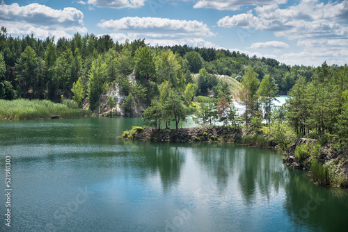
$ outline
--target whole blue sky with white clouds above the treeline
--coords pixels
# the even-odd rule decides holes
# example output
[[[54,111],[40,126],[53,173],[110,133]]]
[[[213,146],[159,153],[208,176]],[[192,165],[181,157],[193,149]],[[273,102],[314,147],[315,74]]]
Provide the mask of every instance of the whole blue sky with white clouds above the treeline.
[[[13,37],[109,34],[122,43],[230,49],[287,65],[348,63],[348,0],[1,0],[0,26]]]

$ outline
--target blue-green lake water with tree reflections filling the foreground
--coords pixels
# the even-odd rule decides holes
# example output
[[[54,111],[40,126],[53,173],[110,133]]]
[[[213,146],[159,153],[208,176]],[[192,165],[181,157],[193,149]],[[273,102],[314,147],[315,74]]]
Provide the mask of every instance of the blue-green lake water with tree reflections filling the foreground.
[[[347,229],[347,190],[314,185],[306,172],[283,165],[278,151],[116,138],[139,124],[140,118],[0,122],[0,231]]]

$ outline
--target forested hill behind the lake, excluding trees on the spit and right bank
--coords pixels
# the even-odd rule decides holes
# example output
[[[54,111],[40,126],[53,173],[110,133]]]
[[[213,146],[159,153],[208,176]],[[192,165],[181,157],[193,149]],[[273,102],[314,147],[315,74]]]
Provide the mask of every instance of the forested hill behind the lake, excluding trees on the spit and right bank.
[[[238,51],[193,48],[187,45],[149,47],[144,40],[115,42],[109,35],[75,34],[72,39],[27,35],[13,38],[0,32],[0,99],[88,99],[90,109],[97,107],[100,94],[114,83],[132,99],[150,103],[167,83],[187,101],[191,95],[219,97],[226,83],[214,74],[228,75],[241,82],[251,67],[258,79],[270,75],[278,93],[287,94],[300,76],[311,81],[315,67],[280,64],[271,58],[249,57]],[[126,76],[136,71],[139,84],[129,85]],[[200,73],[198,81],[191,74]],[[186,91],[186,93],[185,93]],[[186,94],[186,95],[185,95]]]

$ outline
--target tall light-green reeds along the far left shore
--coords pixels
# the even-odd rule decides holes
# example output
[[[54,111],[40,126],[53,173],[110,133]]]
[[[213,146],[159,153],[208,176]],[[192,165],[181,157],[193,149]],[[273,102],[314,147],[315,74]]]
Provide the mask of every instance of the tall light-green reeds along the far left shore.
[[[0,99],[0,119],[40,119],[50,118],[52,115],[59,115],[61,118],[84,117],[90,115],[90,111],[69,108],[61,103],[47,100]]]

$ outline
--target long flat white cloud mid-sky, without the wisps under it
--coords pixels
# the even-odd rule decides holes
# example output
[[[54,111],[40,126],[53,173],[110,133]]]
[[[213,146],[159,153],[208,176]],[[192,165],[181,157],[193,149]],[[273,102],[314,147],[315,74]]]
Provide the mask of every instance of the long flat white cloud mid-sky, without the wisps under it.
[[[206,38],[215,34],[203,22],[157,17],[124,17],[102,21],[97,26],[109,31],[123,31],[147,38]]]

